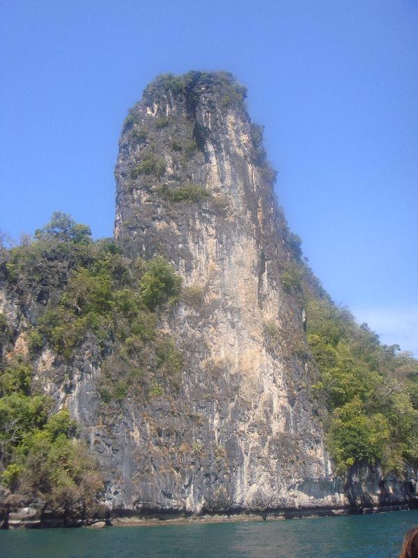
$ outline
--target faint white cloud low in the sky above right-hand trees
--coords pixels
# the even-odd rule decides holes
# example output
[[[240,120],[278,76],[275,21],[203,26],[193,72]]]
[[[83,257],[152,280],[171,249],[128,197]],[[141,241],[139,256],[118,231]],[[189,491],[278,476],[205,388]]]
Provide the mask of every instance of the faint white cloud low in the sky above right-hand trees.
[[[401,345],[418,357],[418,306],[412,308],[367,308],[352,310],[357,322],[369,324],[386,345]]]

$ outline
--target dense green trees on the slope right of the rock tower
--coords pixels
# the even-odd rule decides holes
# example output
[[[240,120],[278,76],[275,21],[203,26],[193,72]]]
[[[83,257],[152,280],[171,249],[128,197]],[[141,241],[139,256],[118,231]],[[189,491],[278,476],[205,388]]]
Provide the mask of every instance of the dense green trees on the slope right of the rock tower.
[[[320,368],[327,443],[340,471],[382,464],[402,474],[418,465],[418,361],[381,345],[366,324],[326,297],[307,297],[308,342]]]

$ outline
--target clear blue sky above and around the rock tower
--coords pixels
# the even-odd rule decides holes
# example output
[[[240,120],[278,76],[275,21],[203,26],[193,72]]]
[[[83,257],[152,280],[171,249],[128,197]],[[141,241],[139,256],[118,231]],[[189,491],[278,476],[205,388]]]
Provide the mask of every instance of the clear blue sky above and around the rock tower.
[[[418,356],[417,0],[2,0],[0,228],[111,236],[127,110],[192,69],[247,86],[312,269]]]

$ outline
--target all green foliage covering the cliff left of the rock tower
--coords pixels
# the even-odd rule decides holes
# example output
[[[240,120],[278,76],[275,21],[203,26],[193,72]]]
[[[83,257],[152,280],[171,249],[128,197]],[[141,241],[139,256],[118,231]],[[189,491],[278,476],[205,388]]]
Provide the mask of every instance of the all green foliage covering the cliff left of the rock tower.
[[[4,252],[0,263],[10,288],[49,285],[60,293],[25,332],[29,353],[2,351],[1,480],[20,494],[85,507],[101,488],[100,474],[77,439],[75,421],[65,409],[54,413],[54,400],[33,387],[33,362],[47,346],[70,361],[93,335],[103,352],[104,404],[138,393],[160,396],[164,382],[172,391],[183,357],[155,330],[155,310],[176,299],[180,278],[162,256],[132,262],[111,241],[93,242],[90,229],[65,213],[54,213],[33,241]],[[2,347],[12,329],[1,314]]]

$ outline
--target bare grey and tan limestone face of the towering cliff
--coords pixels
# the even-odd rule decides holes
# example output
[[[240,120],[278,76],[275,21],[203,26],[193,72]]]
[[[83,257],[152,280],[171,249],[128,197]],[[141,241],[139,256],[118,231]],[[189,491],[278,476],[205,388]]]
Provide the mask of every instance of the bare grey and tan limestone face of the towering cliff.
[[[47,372],[43,389],[82,423],[114,512],[408,502],[415,486],[383,483],[378,470],[345,480],[332,470],[310,394],[302,301],[281,282],[300,253],[244,97],[229,74],[161,77],[123,128],[115,239],[130,257],[164,255],[183,278],[180,300],[157,315],[183,354],[178,377],[105,414],[98,382],[111,346],[103,351],[94,336],[70,364],[45,349],[38,377]],[[36,323],[45,289],[56,294],[58,265],[57,285],[26,293],[23,306],[1,289],[0,310],[17,329]]]

